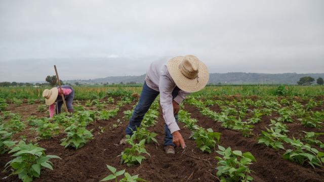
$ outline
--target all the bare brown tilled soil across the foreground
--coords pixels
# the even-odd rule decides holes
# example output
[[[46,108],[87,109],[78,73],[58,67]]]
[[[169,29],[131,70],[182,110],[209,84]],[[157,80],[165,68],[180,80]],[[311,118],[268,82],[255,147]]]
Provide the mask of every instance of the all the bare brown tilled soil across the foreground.
[[[34,181],[99,181],[110,174],[106,164],[116,167],[117,170],[126,169],[132,175],[139,174],[141,178],[148,181],[218,181],[215,176],[216,153],[204,154],[197,149],[195,143],[188,139],[191,131],[184,128],[182,123],[179,123],[179,126],[182,128],[181,134],[186,142],[186,150],[176,148],[175,155],[165,154],[163,148],[164,119],[161,110],[156,125],[148,128],[158,134],[156,139],[159,142],[158,145],[146,144],[146,150],[151,157],[146,156],[147,159],[142,165],[132,167],[120,165],[118,155],[128,147],[118,145],[125,135],[125,127],[128,124],[128,121],[123,118],[123,111],[132,109],[134,104],[120,108],[114,118],[99,120],[89,125],[88,129],[94,129],[94,139],[78,150],[64,149],[60,145],[60,140],[65,137],[65,134],[59,134],[51,140],[38,141],[39,146],[47,150],[47,154],[57,155],[62,159],[52,159],[54,170],[42,170],[41,178],[35,178]],[[242,152],[249,151],[255,156],[257,162],[250,167],[254,171],[252,173],[254,181],[324,181],[324,169],[302,167],[283,159],[282,152],[257,144],[257,134],[260,133],[260,129],[269,124],[269,118],[263,117],[254,128],[255,135],[245,138],[239,131],[224,129],[219,122],[201,115],[193,106],[185,105],[185,110],[191,113],[191,117],[198,120],[199,126],[221,132],[220,145]],[[123,122],[113,127],[113,124],[117,124],[117,119]],[[104,128],[103,133],[100,132],[99,126]],[[289,130],[297,135],[300,127],[292,124]],[[302,129],[309,131],[305,127]],[[11,160],[10,155],[0,155],[1,171],[9,160]],[[17,176],[4,178],[9,173],[9,171],[0,173],[0,179],[19,181]]]

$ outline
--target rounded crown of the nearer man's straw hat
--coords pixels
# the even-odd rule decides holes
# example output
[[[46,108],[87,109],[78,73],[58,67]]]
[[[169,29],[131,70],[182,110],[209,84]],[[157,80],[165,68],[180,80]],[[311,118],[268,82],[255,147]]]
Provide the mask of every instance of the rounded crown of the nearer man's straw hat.
[[[180,63],[181,73],[189,79],[194,79],[198,75],[199,60],[193,55],[183,57]]]

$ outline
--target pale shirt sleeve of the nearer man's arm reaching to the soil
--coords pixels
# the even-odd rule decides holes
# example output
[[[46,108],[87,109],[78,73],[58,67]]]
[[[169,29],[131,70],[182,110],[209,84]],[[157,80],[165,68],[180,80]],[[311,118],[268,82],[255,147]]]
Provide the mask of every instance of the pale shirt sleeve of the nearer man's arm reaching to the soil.
[[[172,91],[176,85],[167,74],[168,72],[161,71],[158,87],[160,92],[160,104],[163,110],[163,118],[168,125],[171,133],[173,133],[180,130],[173,114],[172,105]]]

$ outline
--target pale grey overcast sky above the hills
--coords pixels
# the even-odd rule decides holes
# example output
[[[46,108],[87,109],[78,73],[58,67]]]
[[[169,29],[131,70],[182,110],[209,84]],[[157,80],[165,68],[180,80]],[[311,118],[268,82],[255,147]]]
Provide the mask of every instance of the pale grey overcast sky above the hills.
[[[141,75],[193,54],[211,73],[323,73],[324,1],[0,0],[0,81]]]

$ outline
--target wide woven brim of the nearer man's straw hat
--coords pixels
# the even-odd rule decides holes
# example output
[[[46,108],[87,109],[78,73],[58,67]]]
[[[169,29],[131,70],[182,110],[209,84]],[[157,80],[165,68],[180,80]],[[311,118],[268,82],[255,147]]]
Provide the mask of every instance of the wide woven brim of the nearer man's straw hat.
[[[167,63],[168,71],[173,81],[181,90],[188,93],[198,92],[199,90],[203,89],[208,83],[208,68],[203,62],[199,61],[198,78],[187,78],[180,71],[180,63],[182,62],[183,58],[183,56],[172,58]]]

